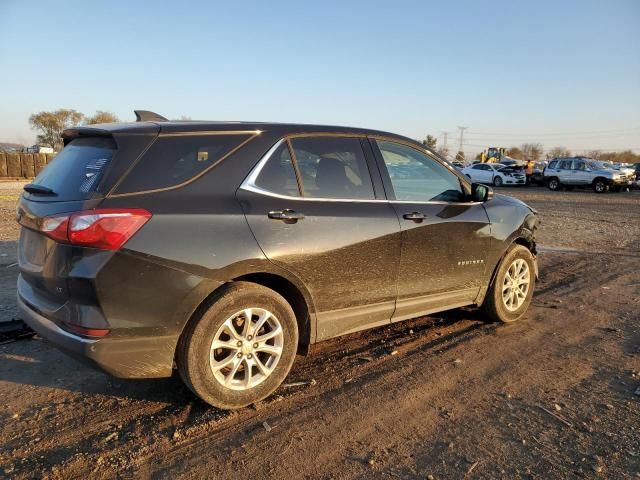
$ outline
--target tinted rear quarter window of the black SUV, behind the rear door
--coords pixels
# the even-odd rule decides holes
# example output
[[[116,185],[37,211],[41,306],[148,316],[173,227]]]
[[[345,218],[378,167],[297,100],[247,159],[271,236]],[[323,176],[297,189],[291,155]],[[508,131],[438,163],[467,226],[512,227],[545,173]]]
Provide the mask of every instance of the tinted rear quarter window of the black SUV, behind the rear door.
[[[179,185],[213,166],[248,135],[159,137],[118,187],[117,193]]]

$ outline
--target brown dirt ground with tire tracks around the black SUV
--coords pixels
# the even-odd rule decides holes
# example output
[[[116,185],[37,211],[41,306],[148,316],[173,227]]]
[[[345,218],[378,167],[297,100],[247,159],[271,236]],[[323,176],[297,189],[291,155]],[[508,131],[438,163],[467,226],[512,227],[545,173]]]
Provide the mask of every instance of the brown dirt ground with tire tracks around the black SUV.
[[[0,320],[19,186],[0,184]],[[0,477],[640,478],[640,194],[502,193],[543,222],[520,322],[461,309],[337,338],[297,359],[306,383],[235,412],[0,346]]]

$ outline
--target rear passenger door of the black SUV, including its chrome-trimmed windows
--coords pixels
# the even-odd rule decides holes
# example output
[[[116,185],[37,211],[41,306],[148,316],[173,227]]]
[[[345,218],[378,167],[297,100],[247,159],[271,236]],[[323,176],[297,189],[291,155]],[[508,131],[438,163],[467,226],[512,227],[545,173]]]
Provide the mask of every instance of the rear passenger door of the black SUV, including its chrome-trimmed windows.
[[[237,196],[267,258],[309,289],[319,340],[390,322],[400,227],[365,138],[283,139]]]

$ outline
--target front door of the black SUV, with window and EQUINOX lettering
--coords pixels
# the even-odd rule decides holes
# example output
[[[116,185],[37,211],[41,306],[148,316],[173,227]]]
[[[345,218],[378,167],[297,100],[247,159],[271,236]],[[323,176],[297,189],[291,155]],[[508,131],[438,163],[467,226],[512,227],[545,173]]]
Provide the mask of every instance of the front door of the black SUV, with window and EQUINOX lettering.
[[[372,140],[402,230],[392,321],[469,305],[486,277],[491,224],[459,177],[418,147]]]

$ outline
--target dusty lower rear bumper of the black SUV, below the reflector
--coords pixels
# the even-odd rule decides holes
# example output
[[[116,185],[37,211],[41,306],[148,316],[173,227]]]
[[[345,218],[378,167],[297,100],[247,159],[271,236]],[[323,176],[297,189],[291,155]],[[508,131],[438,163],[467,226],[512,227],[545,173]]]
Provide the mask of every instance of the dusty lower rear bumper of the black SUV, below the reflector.
[[[22,319],[68,355],[120,378],[170,377],[178,341],[175,336],[83,338],[60,328],[18,295]]]

